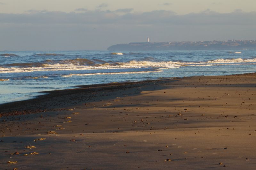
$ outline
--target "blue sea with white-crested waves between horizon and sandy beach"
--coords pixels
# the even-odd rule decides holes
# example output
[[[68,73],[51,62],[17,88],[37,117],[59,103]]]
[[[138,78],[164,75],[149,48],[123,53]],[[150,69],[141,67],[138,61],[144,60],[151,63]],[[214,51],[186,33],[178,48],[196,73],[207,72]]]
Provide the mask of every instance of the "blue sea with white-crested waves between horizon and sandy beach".
[[[0,51],[0,104],[111,82],[256,72],[256,50]]]

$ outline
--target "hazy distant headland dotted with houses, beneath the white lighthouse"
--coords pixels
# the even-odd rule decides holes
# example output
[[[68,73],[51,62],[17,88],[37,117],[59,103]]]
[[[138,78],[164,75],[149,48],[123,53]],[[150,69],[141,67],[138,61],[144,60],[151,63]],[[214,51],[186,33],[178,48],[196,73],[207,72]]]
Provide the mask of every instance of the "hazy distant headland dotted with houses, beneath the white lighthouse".
[[[184,42],[131,42],[116,44],[108,50],[116,51],[153,51],[153,50],[242,50],[256,49],[256,40],[228,41],[184,41]]]

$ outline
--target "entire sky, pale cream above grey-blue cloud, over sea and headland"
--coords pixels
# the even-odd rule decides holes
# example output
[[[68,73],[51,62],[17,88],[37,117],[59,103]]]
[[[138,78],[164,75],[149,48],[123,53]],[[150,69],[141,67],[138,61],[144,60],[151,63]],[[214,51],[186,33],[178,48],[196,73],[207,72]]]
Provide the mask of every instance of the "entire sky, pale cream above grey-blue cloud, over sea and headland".
[[[0,0],[0,50],[256,39],[255,0]]]

